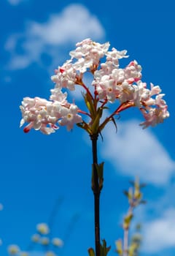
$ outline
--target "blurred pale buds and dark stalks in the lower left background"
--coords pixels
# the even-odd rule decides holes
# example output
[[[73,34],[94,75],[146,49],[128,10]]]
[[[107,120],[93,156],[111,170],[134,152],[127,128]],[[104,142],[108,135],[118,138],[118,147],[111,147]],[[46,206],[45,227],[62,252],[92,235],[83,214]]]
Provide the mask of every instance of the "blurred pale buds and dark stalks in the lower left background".
[[[63,239],[52,235],[52,230],[55,227],[55,217],[63,201],[62,197],[58,197],[55,206],[52,208],[48,222],[41,222],[36,225],[36,232],[31,236],[28,246],[25,250],[20,248],[18,244],[10,244],[7,248],[9,256],[30,256],[33,252],[43,252],[44,256],[58,256],[61,255],[61,249],[68,242],[74,230],[74,225],[79,219],[79,214],[74,214],[69,224],[64,230]]]

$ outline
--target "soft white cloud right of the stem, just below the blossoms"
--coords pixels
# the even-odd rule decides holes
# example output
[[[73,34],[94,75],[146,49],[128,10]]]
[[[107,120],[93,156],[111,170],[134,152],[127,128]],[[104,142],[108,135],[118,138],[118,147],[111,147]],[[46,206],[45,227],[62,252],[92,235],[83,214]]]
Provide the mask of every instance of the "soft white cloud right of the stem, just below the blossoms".
[[[101,154],[117,171],[155,185],[166,185],[170,180],[175,162],[149,129],[139,127],[139,121],[119,122],[116,134],[109,125],[103,135]]]

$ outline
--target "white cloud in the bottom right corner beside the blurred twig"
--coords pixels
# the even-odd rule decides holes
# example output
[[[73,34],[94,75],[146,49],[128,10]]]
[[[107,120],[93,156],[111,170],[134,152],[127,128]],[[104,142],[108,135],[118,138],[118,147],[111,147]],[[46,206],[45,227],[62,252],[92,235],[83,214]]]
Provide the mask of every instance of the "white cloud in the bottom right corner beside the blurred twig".
[[[169,208],[163,216],[144,223],[143,246],[144,252],[160,252],[168,247],[175,247],[175,208]]]

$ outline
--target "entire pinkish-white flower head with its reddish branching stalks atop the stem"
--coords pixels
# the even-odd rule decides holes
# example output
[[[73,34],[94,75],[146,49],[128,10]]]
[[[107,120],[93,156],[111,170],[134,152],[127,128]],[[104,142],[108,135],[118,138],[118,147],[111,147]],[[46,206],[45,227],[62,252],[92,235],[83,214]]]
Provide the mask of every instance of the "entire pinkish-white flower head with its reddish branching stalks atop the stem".
[[[141,126],[144,128],[153,127],[168,118],[168,107],[160,86],[151,83],[150,88],[147,88],[147,83],[141,80],[141,66],[137,61],[131,61],[126,67],[120,68],[119,59],[128,57],[126,50],[112,48],[110,51],[109,42],[100,44],[91,39],[78,42],[76,46],[70,52],[71,59],[55,69],[55,75],[51,77],[55,88],[51,90],[50,100],[39,97],[23,99],[20,106],[23,115],[20,126],[28,123],[24,132],[34,128],[49,135],[59,125],[71,130],[74,124],[78,124],[89,134],[93,134],[101,132],[108,121],[114,121],[114,116],[122,110],[133,106],[141,110],[145,119]],[[89,87],[83,82],[85,72],[93,75]],[[81,86],[85,92],[83,96],[86,110],[81,110],[66,99],[65,90],[74,91],[77,86]],[[116,101],[116,110],[101,122],[107,103]],[[83,115],[90,118],[88,123],[82,118]]]

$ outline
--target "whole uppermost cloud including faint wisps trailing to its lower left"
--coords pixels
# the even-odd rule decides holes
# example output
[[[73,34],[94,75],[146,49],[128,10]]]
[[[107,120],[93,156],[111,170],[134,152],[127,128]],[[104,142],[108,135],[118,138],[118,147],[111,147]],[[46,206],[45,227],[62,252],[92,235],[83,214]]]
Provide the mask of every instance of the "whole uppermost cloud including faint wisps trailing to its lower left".
[[[66,47],[86,37],[102,39],[104,29],[84,6],[71,4],[58,15],[50,15],[45,23],[28,22],[23,33],[12,34],[7,39],[5,48],[11,53],[8,68],[26,68],[35,61],[42,64],[43,53],[52,59],[52,64],[58,65]]]

